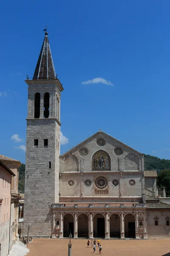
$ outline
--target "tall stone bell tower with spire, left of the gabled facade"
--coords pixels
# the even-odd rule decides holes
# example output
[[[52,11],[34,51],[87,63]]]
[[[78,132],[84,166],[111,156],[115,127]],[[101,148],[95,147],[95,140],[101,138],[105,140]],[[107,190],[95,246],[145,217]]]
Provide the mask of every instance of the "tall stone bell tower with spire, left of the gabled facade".
[[[24,235],[51,236],[51,204],[59,202],[60,96],[48,33],[28,84]]]

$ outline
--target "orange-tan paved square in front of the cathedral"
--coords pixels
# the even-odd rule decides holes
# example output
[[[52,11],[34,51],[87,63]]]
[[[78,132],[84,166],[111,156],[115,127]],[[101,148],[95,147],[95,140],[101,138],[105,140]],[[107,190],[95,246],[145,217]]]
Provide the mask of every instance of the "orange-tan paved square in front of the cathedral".
[[[28,248],[28,256],[68,256],[69,239],[34,239]],[[93,248],[87,248],[87,240],[71,239],[71,256],[92,256]],[[156,240],[102,240],[102,256],[170,256],[170,239]],[[96,255],[99,248],[96,247]]]

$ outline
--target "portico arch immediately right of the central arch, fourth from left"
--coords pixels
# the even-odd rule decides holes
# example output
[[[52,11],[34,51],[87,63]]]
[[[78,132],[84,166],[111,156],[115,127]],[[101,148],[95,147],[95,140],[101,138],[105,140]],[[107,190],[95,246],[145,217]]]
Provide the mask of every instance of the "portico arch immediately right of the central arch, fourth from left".
[[[110,216],[110,237],[120,238],[120,217],[116,213]]]

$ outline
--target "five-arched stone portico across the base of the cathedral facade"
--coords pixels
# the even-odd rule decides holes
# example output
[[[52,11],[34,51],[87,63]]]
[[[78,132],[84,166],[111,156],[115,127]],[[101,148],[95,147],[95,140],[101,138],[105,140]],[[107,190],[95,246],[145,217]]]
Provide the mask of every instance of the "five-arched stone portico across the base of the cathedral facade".
[[[57,204],[59,205],[59,204]],[[57,206],[55,205],[55,206]],[[90,205],[90,204],[89,204]],[[87,209],[75,209],[73,204],[67,206],[52,207],[53,210],[53,238],[68,237],[72,233],[76,238],[147,238],[146,233],[146,213],[144,207],[141,209],[126,209],[120,207],[118,209],[105,209],[102,205],[91,211]],[[63,209],[67,208],[67,209]],[[83,207],[86,208],[86,207]],[[100,208],[100,209],[99,209]]]

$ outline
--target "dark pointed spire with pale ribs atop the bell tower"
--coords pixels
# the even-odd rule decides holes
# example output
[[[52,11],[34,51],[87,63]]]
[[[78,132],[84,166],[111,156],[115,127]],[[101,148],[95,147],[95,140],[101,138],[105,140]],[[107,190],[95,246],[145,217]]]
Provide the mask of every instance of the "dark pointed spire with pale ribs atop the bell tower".
[[[41,47],[33,80],[56,79],[56,72],[47,35],[48,33],[45,32],[45,38]]]

